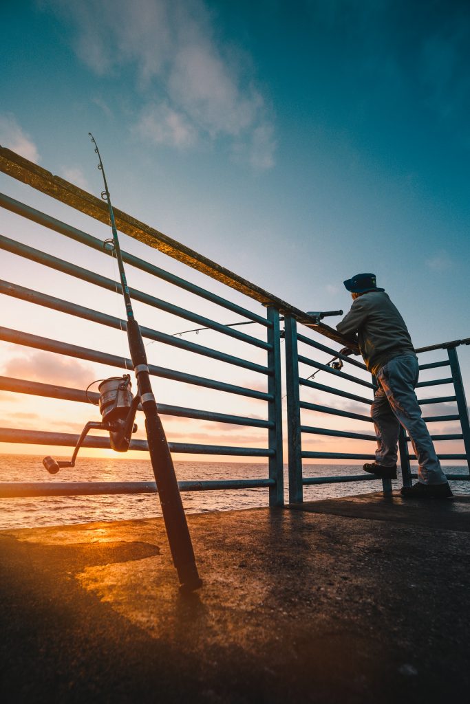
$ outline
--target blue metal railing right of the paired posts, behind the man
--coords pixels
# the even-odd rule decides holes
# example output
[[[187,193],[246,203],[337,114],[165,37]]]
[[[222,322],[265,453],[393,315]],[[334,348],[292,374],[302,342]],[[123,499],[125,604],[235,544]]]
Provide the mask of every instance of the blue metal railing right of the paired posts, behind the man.
[[[316,353],[328,353],[329,355],[338,356],[343,363],[347,363],[352,367],[352,371],[355,372],[351,374],[349,372],[342,372],[329,367],[326,364],[320,363],[318,360],[307,356],[306,354],[299,353],[299,344],[306,346],[309,352],[315,351]],[[448,360],[428,363],[420,365],[420,370],[435,369],[438,367],[450,366],[451,376],[443,379],[431,379],[429,381],[419,382],[416,388],[423,388],[426,386],[440,386],[443,384],[452,384],[454,387],[454,395],[452,396],[441,396],[435,398],[422,398],[419,400],[420,406],[426,406],[428,404],[437,403],[457,403],[457,413],[448,413],[446,415],[435,415],[424,417],[424,420],[428,422],[449,422],[449,421],[459,421],[461,425],[462,432],[457,434],[438,434],[431,435],[433,441],[449,441],[449,440],[459,440],[464,443],[464,453],[438,453],[440,460],[466,460],[469,463],[470,458],[470,427],[469,427],[469,414],[468,408],[466,406],[464,386],[462,384],[462,375],[459,368],[459,360],[457,357],[456,347],[460,344],[470,344],[470,339],[456,340],[445,344],[433,345],[431,347],[416,349],[416,353],[421,355],[421,353],[426,353],[431,350],[437,349],[447,349],[449,356]],[[286,361],[286,386],[287,386],[287,444],[288,444],[288,457],[289,457],[289,501],[290,503],[302,503],[303,501],[303,487],[306,485],[313,484],[333,484],[336,482],[364,482],[370,481],[374,478],[371,474],[351,474],[330,476],[330,477],[305,477],[303,471],[302,460],[306,459],[323,459],[323,460],[375,460],[375,455],[373,453],[350,453],[350,452],[326,452],[326,451],[309,451],[302,448],[302,436],[304,434],[311,434],[315,436],[329,436],[330,438],[338,439],[348,439],[357,441],[373,441],[376,443],[376,435],[373,432],[363,433],[363,432],[347,432],[342,429],[332,429],[326,427],[316,427],[312,425],[307,425],[302,422],[302,410],[314,411],[320,413],[321,415],[328,414],[335,417],[349,418],[354,421],[361,421],[371,424],[372,419],[370,417],[369,408],[373,401],[373,392],[376,389],[373,377],[364,378],[364,373],[366,372],[366,367],[364,364],[357,362],[350,358],[349,356],[344,356],[335,351],[335,349],[320,344],[318,341],[307,337],[305,334],[299,334],[297,331],[297,321],[293,316],[287,315],[285,317],[285,361]],[[333,379],[342,379],[343,381],[350,382],[354,384],[357,393],[352,393],[345,389],[339,389],[331,384],[319,384],[319,382],[314,382],[309,379],[309,377],[302,377],[299,375],[299,365],[304,365],[309,368],[313,367],[316,370],[321,370],[322,372],[328,373],[330,379],[332,379],[331,384],[333,384]],[[358,374],[359,372],[359,374]],[[318,396],[321,396],[321,403],[316,399],[315,403],[309,401],[303,401],[300,398],[300,389],[314,389]],[[364,389],[367,389],[367,396],[364,396]],[[362,394],[362,395],[359,395]],[[348,410],[341,408],[335,408],[331,405],[328,400],[331,396],[337,396],[344,398],[347,401],[352,401],[358,406],[364,408],[365,413],[353,413]],[[416,474],[412,474],[410,460],[415,460],[415,455],[409,455],[407,444],[409,443],[409,438],[407,437],[404,429],[400,431],[399,438],[399,450],[400,450],[400,463],[402,466],[402,475],[404,486],[411,486],[412,479],[416,478]],[[470,465],[469,465],[470,470]],[[379,477],[375,477],[379,479]],[[469,475],[461,474],[447,474],[448,479],[470,479]],[[390,479],[383,479],[383,490],[391,491],[392,484]]]

